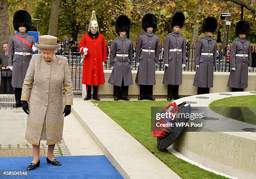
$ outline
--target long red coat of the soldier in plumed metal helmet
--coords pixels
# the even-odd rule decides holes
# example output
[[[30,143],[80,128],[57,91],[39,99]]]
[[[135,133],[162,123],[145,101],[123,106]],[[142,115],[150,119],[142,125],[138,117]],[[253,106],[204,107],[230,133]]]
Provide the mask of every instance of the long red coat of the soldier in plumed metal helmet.
[[[83,47],[87,47],[88,51],[84,57],[82,84],[95,86],[104,84],[102,62],[107,61],[107,47],[104,36],[98,33],[98,37],[92,39],[87,33],[84,34],[78,47],[82,55],[84,54]]]

